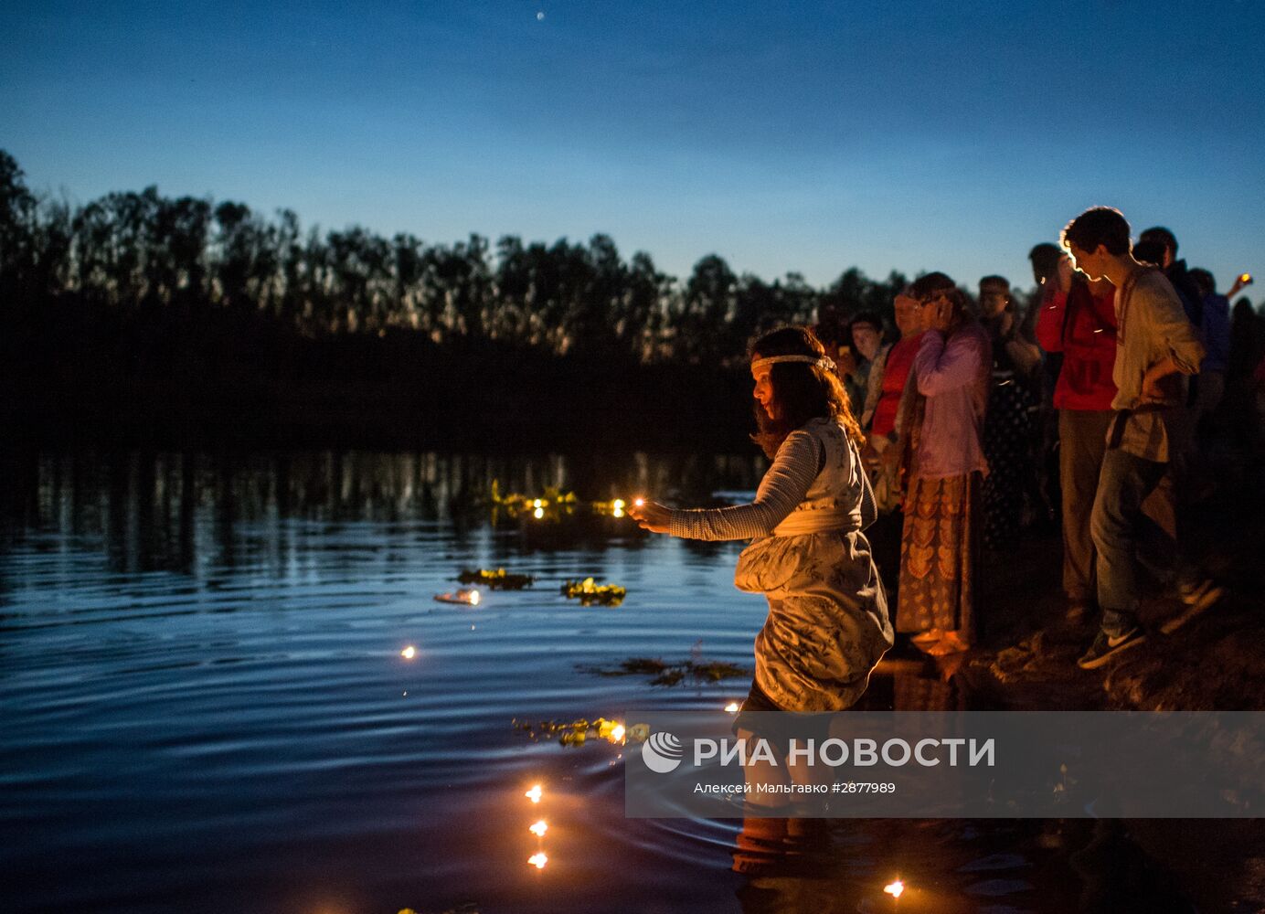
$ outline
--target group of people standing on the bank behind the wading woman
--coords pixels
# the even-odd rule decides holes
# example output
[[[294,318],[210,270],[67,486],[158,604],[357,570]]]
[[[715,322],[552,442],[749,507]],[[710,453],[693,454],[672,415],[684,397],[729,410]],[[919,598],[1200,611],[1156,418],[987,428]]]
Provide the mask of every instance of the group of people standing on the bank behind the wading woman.
[[[1251,277],[1218,293],[1169,229],[1132,244],[1107,207],[1060,241],[1030,252],[1040,292],[1026,314],[1001,276],[970,301],[931,273],[896,297],[892,341],[873,314],[818,327],[861,405],[870,540],[899,568],[896,630],[932,655],[972,645],[978,564],[1031,525],[1061,522],[1069,618],[1101,613],[1085,669],[1145,640],[1144,573],[1182,602],[1168,631],[1222,593],[1176,544],[1211,485],[1202,442],[1226,389],[1230,300]]]

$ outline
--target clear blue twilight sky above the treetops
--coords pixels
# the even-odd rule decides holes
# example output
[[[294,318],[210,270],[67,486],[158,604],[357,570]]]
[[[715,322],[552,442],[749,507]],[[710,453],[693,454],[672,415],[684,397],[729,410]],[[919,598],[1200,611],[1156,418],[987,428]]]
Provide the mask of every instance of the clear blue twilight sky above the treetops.
[[[9,0],[0,148],[76,201],[602,231],[678,277],[715,252],[813,284],[1028,286],[1028,248],[1107,204],[1225,289],[1265,273],[1262,27],[1257,0]]]

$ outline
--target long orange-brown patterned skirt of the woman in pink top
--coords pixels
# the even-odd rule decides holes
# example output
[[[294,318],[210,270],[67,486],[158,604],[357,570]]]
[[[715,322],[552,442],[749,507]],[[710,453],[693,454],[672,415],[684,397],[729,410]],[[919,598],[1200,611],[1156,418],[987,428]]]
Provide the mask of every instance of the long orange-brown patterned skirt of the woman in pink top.
[[[980,474],[913,478],[901,536],[898,632],[974,635]]]

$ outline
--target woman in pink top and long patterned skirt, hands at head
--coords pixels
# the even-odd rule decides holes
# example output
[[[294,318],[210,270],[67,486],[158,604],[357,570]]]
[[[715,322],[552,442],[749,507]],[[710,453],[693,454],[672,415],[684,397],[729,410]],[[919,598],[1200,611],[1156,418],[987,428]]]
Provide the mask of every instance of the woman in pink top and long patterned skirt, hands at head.
[[[910,295],[920,303],[923,334],[901,407],[906,493],[896,630],[941,656],[966,650],[974,637],[992,346],[944,273],[922,277]]]

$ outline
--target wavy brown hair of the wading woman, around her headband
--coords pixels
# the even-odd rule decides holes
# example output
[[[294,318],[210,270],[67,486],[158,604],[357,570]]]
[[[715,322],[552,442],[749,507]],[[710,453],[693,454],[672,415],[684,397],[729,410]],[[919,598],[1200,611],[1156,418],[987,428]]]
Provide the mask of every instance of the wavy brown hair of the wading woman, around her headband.
[[[751,360],[770,355],[826,355],[826,348],[803,326],[778,327],[770,330],[750,345]],[[861,445],[865,435],[853,415],[839,375],[826,368],[807,362],[779,362],[772,365],[769,381],[773,384],[773,399],[778,405],[778,418],[772,418],[759,401],[755,401],[756,432],[751,440],[760,445],[770,460],[787,435],[802,426],[810,418],[834,418],[848,432],[848,437]]]

